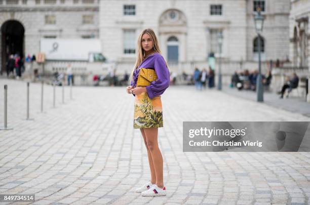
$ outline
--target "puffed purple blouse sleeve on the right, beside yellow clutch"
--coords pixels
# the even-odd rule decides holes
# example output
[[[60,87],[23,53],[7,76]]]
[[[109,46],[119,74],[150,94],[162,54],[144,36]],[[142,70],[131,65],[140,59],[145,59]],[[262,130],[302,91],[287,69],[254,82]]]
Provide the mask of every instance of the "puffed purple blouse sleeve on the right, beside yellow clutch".
[[[150,99],[162,95],[170,84],[170,72],[163,56],[158,56],[154,60],[154,69],[157,74],[157,80],[152,81],[149,86],[146,86],[146,92]]]

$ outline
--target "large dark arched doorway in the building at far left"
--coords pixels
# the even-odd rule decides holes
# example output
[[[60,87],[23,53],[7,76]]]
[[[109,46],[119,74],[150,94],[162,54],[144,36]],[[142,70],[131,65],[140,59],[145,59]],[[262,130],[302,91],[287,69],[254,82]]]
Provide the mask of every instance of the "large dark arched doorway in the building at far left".
[[[1,73],[5,73],[6,62],[11,54],[24,57],[24,26],[16,21],[6,21],[1,26]]]

